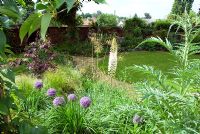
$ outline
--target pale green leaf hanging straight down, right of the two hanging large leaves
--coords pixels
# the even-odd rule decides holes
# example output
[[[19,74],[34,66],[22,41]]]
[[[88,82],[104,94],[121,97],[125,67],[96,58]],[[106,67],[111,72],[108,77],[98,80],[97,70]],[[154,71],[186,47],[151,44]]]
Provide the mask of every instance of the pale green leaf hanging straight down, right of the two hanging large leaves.
[[[50,13],[46,13],[42,16],[42,20],[41,20],[41,31],[40,31],[40,34],[41,34],[41,38],[42,39],[45,39],[45,35],[46,35],[46,32],[47,32],[47,29],[49,27],[49,24],[51,22],[51,14]]]

